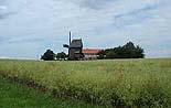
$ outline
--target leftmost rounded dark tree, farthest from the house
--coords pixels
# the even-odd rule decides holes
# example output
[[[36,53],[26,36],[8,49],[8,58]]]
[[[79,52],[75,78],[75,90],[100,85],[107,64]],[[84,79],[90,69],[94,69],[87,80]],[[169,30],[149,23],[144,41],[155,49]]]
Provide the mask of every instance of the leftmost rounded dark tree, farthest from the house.
[[[55,53],[51,50],[46,50],[46,52],[41,56],[41,60],[44,61],[54,61],[55,60]]]

